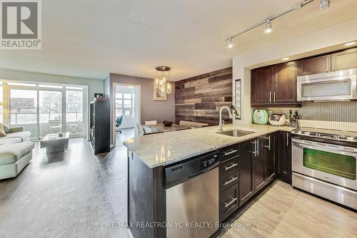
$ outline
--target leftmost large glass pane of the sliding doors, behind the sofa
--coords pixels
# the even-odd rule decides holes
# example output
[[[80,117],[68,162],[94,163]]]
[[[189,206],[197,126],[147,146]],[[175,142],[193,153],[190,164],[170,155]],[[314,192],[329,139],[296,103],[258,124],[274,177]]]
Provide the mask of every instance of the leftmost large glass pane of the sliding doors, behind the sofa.
[[[31,132],[31,138],[39,138],[37,113],[37,90],[10,90],[10,126],[24,127]]]

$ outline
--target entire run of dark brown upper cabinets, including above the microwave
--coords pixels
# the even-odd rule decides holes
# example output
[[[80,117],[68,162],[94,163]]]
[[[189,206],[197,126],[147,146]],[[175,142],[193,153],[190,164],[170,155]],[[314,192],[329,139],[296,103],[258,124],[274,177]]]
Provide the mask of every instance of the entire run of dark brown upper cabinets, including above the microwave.
[[[251,71],[251,106],[301,106],[296,99],[298,76],[357,68],[357,47],[303,58],[298,61],[254,68]]]

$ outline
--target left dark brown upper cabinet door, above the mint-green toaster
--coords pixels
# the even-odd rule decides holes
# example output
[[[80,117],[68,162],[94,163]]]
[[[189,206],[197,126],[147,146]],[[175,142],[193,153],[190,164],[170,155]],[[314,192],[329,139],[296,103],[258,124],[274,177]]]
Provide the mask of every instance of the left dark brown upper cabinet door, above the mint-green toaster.
[[[273,100],[273,66],[255,68],[251,71],[251,103],[265,104]]]

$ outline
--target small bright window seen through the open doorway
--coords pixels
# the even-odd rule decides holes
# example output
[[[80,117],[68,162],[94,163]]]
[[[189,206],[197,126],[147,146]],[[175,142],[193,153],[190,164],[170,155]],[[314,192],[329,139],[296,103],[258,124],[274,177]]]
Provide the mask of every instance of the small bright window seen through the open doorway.
[[[116,118],[118,118],[120,115],[134,117],[134,93],[116,93],[115,95]]]

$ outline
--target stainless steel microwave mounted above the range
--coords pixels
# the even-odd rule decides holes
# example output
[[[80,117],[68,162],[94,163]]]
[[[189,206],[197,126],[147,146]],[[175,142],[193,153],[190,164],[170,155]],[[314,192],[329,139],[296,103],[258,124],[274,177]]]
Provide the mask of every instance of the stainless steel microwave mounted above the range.
[[[357,99],[357,68],[298,76],[298,101]]]

